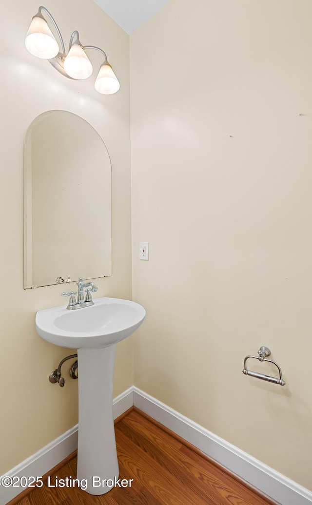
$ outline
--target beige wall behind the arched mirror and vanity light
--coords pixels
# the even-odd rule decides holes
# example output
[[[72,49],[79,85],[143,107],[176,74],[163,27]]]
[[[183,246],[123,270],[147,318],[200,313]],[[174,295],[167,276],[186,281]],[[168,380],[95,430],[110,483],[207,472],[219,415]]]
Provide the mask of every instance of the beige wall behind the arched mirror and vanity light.
[[[23,289],[23,141],[30,123],[44,111],[63,109],[81,116],[107,145],[113,276],[96,281],[97,295],[131,298],[129,36],[91,0],[44,5],[56,18],[66,47],[77,29],[82,43],[107,51],[121,89],[116,95],[99,95],[92,79],[71,81],[31,56],[24,38],[38,3],[6,3],[0,20],[0,475],[77,423],[76,381],[66,379],[64,389],[48,382],[50,372],[72,350],[44,342],[34,328],[37,310],[65,304],[60,296],[64,288]],[[94,67],[99,67],[101,56],[93,53]],[[65,377],[69,368],[64,366]],[[118,344],[115,371],[114,396],[133,383],[130,339]]]

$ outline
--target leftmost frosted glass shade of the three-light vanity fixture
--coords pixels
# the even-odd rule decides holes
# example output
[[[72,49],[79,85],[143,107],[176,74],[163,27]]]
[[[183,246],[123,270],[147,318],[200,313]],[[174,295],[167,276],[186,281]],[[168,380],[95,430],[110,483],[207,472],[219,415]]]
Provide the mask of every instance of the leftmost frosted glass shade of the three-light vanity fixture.
[[[37,58],[49,60],[59,53],[59,44],[42,16],[32,18],[25,38],[29,53]]]

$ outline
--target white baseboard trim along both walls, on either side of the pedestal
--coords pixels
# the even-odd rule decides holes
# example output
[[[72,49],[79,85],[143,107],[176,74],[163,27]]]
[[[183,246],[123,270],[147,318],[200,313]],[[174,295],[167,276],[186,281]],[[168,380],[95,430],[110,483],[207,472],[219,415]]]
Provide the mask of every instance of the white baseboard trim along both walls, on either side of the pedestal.
[[[130,387],[114,398],[114,419],[117,419],[132,406],[137,407],[155,421],[163,424],[166,428],[197,447],[207,457],[215,460],[252,487],[281,503],[281,505],[294,505],[294,503],[296,505],[311,505],[312,492],[287,479],[135,386]],[[77,443],[78,425],[42,447],[5,475],[19,478],[22,476],[37,477],[44,475],[76,450]],[[0,477],[0,482],[3,477]],[[21,487],[5,488],[0,485],[0,505],[6,505],[22,491],[23,488]]]

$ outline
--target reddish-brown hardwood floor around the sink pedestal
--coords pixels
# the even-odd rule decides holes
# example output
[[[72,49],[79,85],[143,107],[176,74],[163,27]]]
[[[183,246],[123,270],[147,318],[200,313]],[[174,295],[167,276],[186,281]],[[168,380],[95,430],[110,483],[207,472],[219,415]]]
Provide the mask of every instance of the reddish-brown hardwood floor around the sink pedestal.
[[[131,487],[114,487],[93,496],[77,487],[35,488],[10,505],[268,505],[259,495],[187,442],[137,409],[115,425],[121,479]],[[50,475],[50,482],[76,477],[77,457]]]

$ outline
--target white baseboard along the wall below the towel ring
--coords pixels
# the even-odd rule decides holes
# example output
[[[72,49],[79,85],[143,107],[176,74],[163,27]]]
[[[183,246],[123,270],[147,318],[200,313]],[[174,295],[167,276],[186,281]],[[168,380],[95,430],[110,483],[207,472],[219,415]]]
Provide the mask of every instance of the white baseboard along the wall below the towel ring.
[[[133,405],[281,505],[311,505],[312,492],[136,387]]]

